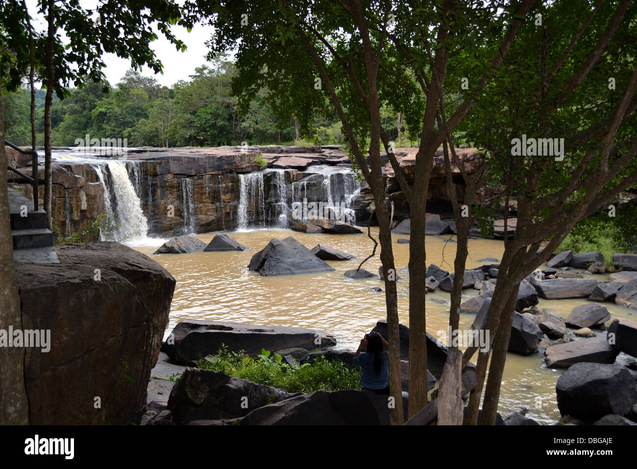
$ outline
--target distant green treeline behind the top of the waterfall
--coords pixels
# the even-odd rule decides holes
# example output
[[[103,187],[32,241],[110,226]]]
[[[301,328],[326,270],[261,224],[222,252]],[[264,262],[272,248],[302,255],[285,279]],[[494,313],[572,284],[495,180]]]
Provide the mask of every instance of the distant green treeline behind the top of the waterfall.
[[[75,145],[78,138],[126,138],[129,146],[180,147],[248,144],[344,144],[340,121],[332,112],[316,112],[311,126],[299,128],[297,119],[277,119],[275,106],[262,90],[247,105],[231,93],[234,64],[218,61],[201,66],[189,81],[160,86],[152,77],[129,70],[122,82],[92,83],[71,89],[69,98],[54,98],[52,144]],[[36,92],[38,145],[44,144],[44,100]],[[24,88],[4,97],[6,138],[31,144],[30,92]],[[385,131],[398,135],[396,116],[387,112]],[[403,141],[408,135],[402,130]]]

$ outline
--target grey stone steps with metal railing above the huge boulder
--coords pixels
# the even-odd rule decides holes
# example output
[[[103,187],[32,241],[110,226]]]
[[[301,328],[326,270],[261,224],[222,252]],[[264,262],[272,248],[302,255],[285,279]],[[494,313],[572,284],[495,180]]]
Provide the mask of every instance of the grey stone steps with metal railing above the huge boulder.
[[[31,200],[8,188],[13,237],[13,260],[33,264],[59,264],[47,212],[34,210]],[[26,210],[25,210],[26,209]]]

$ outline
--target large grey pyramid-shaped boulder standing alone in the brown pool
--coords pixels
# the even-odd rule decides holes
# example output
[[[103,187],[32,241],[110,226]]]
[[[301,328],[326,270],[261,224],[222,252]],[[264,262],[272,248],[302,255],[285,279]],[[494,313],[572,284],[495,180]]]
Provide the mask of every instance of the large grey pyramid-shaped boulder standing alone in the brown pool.
[[[262,276],[334,271],[292,236],[272,239],[268,246],[252,256],[248,269]]]

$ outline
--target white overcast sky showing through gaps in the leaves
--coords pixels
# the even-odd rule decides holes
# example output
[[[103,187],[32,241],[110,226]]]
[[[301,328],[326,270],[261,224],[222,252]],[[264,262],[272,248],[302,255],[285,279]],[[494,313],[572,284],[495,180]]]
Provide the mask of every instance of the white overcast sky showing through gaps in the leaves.
[[[92,9],[97,2],[95,0],[80,0],[80,4],[83,8]],[[43,15],[38,13],[38,0],[27,0],[27,8],[29,8],[31,17],[35,19],[32,22],[34,29],[46,31],[45,19]],[[189,75],[194,73],[195,68],[206,63],[205,56],[208,53],[208,48],[205,42],[212,36],[213,29],[211,26],[196,25],[188,33],[185,28],[174,26],[172,31],[177,38],[184,41],[188,49],[185,52],[178,52],[175,46],[171,45],[155,29],[159,39],[152,41],[150,45],[155,51],[155,55],[164,64],[164,73],[154,75],[153,71],[146,67],[141,71],[143,75],[154,77],[160,84],[165,86],[172,86],[178,80],[188,80]],[[131,63],[128,59],[120,59],[115,54],[105,54],[103,59],[104,63],[106,63],[106,68],[102,71],[111,85],[117,84],[124,76],[124,73],[131,68]]]

